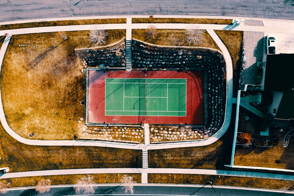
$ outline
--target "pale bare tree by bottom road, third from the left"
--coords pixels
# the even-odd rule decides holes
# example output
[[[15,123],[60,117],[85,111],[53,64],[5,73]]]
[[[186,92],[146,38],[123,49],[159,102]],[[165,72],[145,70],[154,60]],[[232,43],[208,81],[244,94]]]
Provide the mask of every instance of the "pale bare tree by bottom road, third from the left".
[[[76,192],[76,194],[80,194],[80,193],[83,193],[85,195],[90,193],[94,194],[97,186],[93,184],[95,184],[93,176],[91,175],[83,176],[80,179],[76,179],[76,184],[74,185],[74,191]]]

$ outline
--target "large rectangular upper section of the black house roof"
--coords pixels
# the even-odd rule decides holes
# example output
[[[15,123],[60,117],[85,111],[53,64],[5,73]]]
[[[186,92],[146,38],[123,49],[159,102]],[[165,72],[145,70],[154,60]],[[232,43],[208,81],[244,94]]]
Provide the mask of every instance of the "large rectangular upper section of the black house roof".
[[[294,54],[266,57],[264,91],[287,92],[294,85]]]

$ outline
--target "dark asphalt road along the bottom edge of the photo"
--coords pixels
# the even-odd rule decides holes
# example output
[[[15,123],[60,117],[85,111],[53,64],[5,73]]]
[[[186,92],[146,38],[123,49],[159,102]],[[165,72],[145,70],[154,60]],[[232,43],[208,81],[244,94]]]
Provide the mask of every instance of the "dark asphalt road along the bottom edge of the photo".
[[[186,196],[186,195],[202,195],[202,196],[240,196],[240,195],[259,195],[259,196],[287,196],[293,195],[286,192],[268,192],[263,190],[248,190],[248,189],[227,189],[219,187],[211,187],[211,185],[198,186],[198,187],[166,187],[166,186],[135,186],[134,194],[136,195],[174,195],[174,196]],[[34,189],[8,191],[3,195],[13,196],[63,196],[63,195],[75,195],[72,187],[58,187],[51,188],[49,192],[44,194],[38,194]],[[121,187],[99,187],[93,195],[126,195]]]

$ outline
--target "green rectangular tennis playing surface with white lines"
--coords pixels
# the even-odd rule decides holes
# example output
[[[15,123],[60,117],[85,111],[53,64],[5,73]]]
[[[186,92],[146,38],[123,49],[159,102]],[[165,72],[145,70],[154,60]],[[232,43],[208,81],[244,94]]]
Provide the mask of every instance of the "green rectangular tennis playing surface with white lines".
[[[186,79],[106,78],[105,115],[186,116]]]

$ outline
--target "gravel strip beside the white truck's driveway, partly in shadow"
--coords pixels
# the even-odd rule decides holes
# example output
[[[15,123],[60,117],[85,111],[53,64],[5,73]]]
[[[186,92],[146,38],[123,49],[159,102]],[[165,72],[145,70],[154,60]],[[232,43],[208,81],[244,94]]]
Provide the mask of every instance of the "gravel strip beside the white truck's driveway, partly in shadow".
[[[239,89],[244,89],[245,84],[260,83],[257,62],[262,62],[263,32],[244,31],[243,51]]]

